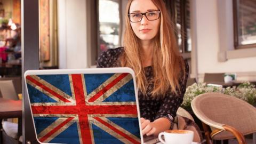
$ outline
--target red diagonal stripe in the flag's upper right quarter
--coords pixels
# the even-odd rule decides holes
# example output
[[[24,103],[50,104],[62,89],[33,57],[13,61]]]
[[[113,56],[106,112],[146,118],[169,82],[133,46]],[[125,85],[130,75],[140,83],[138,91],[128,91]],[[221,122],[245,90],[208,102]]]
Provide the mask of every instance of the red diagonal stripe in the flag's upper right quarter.
[[[102,94],[104,94],[105,92],[107,92],[109,89],[111,89],[111,87],[113,87],[115,84],[117,84],[119,81],[121,81],[125,76],[127,76],[128,74],[121,74],[119,75],[117,78],[115,78],[112,82],[110,82],[107,86],[103,87],[103,89],[101,89],[98,93],[96,93],[95,95],[93,95],[92,98],[90,98],[88,101],[89,102],[94,102],[95,100],[97,100],[98,98],[100,98],[100,96]]]

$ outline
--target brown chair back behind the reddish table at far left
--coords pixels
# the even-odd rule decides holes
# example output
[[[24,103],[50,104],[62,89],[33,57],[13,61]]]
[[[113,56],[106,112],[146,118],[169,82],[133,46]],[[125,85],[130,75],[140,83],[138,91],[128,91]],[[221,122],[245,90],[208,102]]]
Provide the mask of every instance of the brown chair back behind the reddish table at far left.
[[[2,93],[2,97],[5,99],[18,100],[18,95],[15,91],[12,80],[0,81],[0,91]]]

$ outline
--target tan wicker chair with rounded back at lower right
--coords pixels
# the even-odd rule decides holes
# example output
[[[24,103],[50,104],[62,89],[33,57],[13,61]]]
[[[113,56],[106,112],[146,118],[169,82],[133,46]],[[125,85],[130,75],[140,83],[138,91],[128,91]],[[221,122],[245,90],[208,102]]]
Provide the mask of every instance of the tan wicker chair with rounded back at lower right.
[[[213,139],[236,138],[243,144],[246,143],[243,135],[256,132],[256,108],[241,99],[221,93],[205,93],[198,95],[191,107],[203,122],[207,143],[212,143]]]

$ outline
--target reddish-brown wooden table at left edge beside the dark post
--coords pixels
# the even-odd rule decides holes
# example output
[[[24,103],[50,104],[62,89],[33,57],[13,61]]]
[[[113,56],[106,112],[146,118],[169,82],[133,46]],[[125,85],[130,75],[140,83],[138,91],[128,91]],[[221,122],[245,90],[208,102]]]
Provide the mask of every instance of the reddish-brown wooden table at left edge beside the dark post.
[[[18,118],[18,138],[22,133],[22,101],[0,98],[0,129],[2,119]]]

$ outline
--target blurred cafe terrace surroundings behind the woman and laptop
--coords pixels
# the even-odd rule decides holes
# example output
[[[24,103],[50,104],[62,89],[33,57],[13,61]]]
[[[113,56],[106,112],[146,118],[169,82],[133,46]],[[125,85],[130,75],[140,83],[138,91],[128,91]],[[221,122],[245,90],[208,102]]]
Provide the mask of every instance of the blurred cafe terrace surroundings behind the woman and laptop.
[[[256,144],[256,1],[163,1],[189,64],[177,116],[198,125],[198,143]],[[127,2],[0,0],[0,144],[39,143],[25,71],[95,68],[123,46]]]

